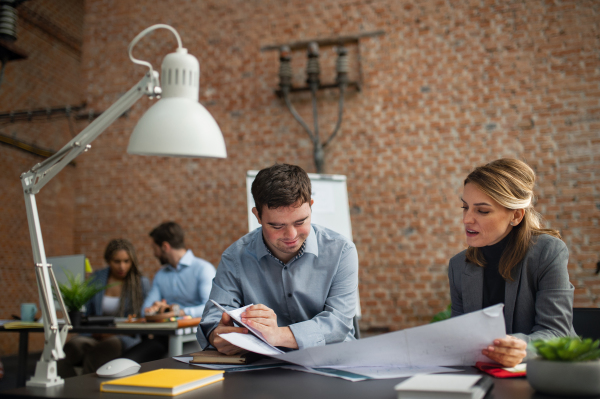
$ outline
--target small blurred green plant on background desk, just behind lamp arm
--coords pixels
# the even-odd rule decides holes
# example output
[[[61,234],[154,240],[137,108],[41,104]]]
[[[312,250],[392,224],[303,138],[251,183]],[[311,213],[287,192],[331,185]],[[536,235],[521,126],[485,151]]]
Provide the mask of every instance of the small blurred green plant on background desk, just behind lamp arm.
[[[98,292],[106,289],[107,286],[102,286],[93,279],[82,280],[81,275],[75,276],[69,270],[64,270],[64,272],[68,283],[59,283],[58,288],[67,307],[71,324],[79,326],[85,312],[85,304]]]

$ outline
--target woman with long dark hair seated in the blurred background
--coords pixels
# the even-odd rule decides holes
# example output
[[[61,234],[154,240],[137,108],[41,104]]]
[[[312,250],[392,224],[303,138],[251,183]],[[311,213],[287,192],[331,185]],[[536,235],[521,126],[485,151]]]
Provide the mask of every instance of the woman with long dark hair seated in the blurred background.
[[[90,278],[100,286],[109,287],[86,304],[86,315],[139,315],[150,281],[140,274],[133,245],[124,239],[112,240],[106,246],[104,259],[108,267],[94,272]],[[63,378],[75,376],[75,367],[82,367],[83,374],[93,373],[106,362],[122,357],[140,341],[139,337],[128,335],[76,336],[64,347],[66,358],[58,363],[58,373]]]

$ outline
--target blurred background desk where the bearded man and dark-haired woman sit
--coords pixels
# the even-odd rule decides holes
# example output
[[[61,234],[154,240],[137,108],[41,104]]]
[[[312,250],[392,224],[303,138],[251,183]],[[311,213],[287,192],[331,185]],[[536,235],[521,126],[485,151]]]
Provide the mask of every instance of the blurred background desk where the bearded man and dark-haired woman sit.
[[[177,329],[143,329],[139,328],[117,328],[109,326],[80,326],[73,327],[69,333],[88,333],[88,334],[152,334],[167,335],[169,337],[169,357],[179,356],[183,353],[183,343],[196,340],[196,331],[198,327],[186,327]],[[39,328],[20,328],[6,329],[0,326],[0,333],[19,333],[19,357],[17,366],[17,386],[25,386],[27,379],[27,354],[29,353],[29,333],[43,333],[44,329]]]

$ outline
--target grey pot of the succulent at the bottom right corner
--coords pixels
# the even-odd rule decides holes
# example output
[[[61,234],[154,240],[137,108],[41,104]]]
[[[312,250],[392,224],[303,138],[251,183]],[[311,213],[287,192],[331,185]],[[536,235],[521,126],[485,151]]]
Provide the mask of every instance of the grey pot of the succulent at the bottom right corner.
[[[587,362],[528,360],[527,381],[536,391],[549,395],[600,395],[600,360]]]

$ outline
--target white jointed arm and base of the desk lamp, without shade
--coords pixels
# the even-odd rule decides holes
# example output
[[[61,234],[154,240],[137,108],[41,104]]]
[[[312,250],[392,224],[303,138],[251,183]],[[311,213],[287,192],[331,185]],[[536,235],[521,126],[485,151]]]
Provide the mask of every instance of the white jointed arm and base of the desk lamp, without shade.
[[[52,288],[55,289],[57,294],[59,293],[58,284],[52,271],[52,265],[46,262],[35,195],[67,166],[69,162],[82,152],[87,151],[91,147],[90,143],[117,120],[119,116],[131,108],[137,100],[144,95],[154,97],[159,94],[158,72],[148,72],[137,85],[69,141],[62,149],[21,175],[27,210],[27,224],[29,226],[33,260],[36,266],[36,280],[45,337],[42,357],[37,362],[35,375],[27,382],[28,386],[50,387],[64,383],[64,380],[57,375],[56,361],[65,357],[62,348],[67,339],[68,330],[72,328],[62,297],[57,295],[66,321],[65,325],[59,331],[52,295]]]

